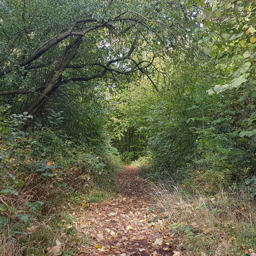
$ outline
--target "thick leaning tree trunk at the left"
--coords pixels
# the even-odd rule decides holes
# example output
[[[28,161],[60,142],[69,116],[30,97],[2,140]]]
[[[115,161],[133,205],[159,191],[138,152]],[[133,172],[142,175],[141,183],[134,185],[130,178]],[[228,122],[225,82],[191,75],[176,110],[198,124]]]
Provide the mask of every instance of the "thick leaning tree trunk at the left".
[[[58,60],[55,65],[54,70],[50,75],[50,79],[48,83],[45,85],[44,89],[36,99],[27,107],[26,112],[30,115],[35,115],[43,106],[44,102],[51,96],[57,89],[58,83],[61,80],[61,74],[65,70],[66,66],[73,59],[75,54],[77,53],[78,47],[82,42],[82,37],[77,37],[73,42],[71,42],[68,46],[66,46],[63,55]],[[24,125],[27,126],[27,123]]]

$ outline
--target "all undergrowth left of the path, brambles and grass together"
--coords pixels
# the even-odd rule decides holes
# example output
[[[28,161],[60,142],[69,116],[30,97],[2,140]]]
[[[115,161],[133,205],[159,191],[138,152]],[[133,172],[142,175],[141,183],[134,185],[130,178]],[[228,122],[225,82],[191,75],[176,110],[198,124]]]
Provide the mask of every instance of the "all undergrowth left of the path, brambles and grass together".
[[[77,231],[79,214],[117,191],[119,159],[107,145],[100,153],[62,131],[20,131],[29,118],[0,108],[0,252],[72,255],[90,243]]]

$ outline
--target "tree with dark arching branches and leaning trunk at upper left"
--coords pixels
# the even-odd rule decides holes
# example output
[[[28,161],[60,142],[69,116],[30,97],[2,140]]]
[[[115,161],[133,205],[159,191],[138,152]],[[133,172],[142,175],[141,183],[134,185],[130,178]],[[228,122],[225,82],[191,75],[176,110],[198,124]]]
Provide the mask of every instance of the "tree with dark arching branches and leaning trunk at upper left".
[[[27,100],[22,107],[34,115],[67,84],[140,72],[157,89],[149,67],[188,42],[193,2],[2,1],[0,95]]]

